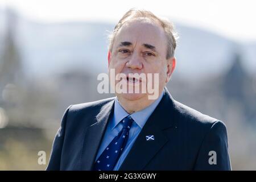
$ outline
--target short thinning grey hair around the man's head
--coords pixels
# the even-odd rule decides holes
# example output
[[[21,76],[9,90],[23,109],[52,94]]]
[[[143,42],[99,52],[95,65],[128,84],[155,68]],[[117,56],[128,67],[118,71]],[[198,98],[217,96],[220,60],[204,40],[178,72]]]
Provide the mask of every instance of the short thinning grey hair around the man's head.
[[[168,19],[159,18],[150,11],[130,9],[123,15],[119,22],[115,25],[114,31],[109,34],[109,51],[112,52],[115,36],[117,35],[118,30],[125,24],[128,20],[138,19],[138,18],[148,18],[154,20],[155,22],[160,23],[160,26],[163,27],[163,30],[167,37],[167,55],[166,59],[174,57],[174,52],[176,48],[176,42],[178,39],[177,32],[174,30],[174,24]]]

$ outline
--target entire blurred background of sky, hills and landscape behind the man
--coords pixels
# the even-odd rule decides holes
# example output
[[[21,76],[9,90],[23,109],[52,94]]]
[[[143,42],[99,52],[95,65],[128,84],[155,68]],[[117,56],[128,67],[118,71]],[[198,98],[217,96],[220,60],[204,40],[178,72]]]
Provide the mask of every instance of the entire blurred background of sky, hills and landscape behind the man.
[[[0,170],[44,170],[64,110],[112,97],[109,31],[133,7],[179,34],[175,100],[223,121],[234,170],[256,170],[255,1],[0,0]],[[38,152],[46,151],[46,164]]]

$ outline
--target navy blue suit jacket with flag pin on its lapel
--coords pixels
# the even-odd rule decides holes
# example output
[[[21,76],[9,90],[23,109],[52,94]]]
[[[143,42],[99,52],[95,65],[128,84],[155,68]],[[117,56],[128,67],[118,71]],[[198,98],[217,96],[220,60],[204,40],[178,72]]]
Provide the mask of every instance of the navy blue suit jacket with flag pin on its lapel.
[[[47,170],[91,170],[113,107],[114,98],[69,106]],[[175,101],[165,88],[119,170],[231,170],[226,126]]]

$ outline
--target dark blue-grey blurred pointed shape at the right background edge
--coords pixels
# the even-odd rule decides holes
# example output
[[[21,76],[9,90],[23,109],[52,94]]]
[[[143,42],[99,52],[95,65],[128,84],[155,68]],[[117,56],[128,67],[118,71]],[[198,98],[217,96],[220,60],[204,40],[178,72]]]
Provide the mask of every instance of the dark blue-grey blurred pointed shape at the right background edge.
[[[236,49],[238,50],[238,49]],[[255,125],[256,98],[253,89],[253,77],[243,67],[243,57],[240,51],[234,51],[233,64],[222,77],[222,91],[226,103],[230,106],[236,104],[240,107],[245,120]],[[245,121],[242,121],[245,122]]]

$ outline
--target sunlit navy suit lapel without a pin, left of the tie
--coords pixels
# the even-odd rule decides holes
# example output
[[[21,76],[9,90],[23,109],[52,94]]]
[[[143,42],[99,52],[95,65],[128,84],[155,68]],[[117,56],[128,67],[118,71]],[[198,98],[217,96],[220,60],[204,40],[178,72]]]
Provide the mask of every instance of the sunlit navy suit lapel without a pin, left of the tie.
[[[93,125],[85,130],[84,142],[82,145],[80,168],[81,170],[91,170],[96,158],[98,148],[100,147],[102,137],[104,136],[110,115],[113,112],[114,100],[102,106],[100,112],[95,118],[91,118]]]

